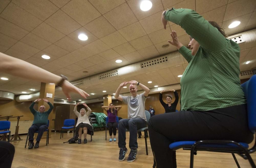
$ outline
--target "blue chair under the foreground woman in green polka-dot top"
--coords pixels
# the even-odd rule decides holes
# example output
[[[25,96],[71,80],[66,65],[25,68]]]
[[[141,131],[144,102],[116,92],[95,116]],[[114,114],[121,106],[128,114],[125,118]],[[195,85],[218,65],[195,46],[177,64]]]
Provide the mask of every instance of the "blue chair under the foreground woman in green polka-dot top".
[[[256,130],[256,75],[253,75],[250,80],[241,85],[244,94],[247,98],[247,113],[248,113],[248,125],[251,132],[255,133]],[[194,165],[194,155],[196,151],[212,151],[212,152],[226,152],[232,153],[232,156],[240,168],[240,165],[236,159],[234,153],[237,153],[244,159],[248,159],[250,165],[255,168],[255,164],[250,156],[250,153],[256,151],[256,141],[251,149],[247,143],[234,142],[234,141],[179,141],[169,145],[172,151],[179,148],[184,150],[190,150],[190,168]]]

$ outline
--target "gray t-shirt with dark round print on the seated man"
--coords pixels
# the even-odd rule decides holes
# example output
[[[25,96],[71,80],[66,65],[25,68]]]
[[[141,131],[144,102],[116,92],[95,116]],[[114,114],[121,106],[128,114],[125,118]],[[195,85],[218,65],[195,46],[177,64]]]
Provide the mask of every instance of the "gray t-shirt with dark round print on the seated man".
[[[128,119],[131,118],[142,118],[145,121],[145,101],[147,97],[143,93],[137,94],[136,97],[132,96],[122,96],[123,102],[128,106]]]

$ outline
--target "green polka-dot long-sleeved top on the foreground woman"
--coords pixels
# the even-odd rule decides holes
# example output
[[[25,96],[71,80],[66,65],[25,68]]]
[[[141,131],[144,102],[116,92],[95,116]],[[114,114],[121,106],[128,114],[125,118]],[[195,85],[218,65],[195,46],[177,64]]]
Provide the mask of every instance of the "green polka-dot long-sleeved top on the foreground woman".
[[[240,48],[191,9],[170,9],[164,18],[180,25],[200,47],[195,56],[185,46],[188,61],[182,78],[181,109],[207,111],[246,103],[239,79]]]

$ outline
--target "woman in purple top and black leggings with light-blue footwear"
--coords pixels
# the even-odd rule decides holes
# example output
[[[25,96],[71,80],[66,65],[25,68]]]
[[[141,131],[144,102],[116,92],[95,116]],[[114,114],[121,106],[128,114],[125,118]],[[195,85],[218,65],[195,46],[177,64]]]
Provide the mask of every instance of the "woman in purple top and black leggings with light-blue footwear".
[[[114,134],[114,141],[116,141],[115,135],[116,128],[118,126],[118,123],[116,122],[116,116],[117,112],[122,108],[122,106],[114,106],[113,103],[110,103],[109,106],[102,106],[101,108],[108,113],[109,122],[107,123],[107,126],[109,128],[109,142],[112,142],[112,133]]]

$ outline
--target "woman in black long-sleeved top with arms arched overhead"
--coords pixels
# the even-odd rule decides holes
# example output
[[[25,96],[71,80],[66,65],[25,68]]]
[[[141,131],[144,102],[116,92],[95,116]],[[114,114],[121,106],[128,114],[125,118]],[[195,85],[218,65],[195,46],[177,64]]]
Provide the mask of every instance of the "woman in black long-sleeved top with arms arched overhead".
[[[176,106],[177,106],[178,101],[179,101],[178,93],[174,89],[170,89],[169,91],[172,91],[174,93],[175,101],[172,103],[172,96],[166,96],[167,104],[165,104],[165,102],[163,101],[163,94],[162,94],[164,91],[165,90],[162,90],[160,92],[159,101],[162,104],[162,106],[164,107],[165,113],[175,112],[176,111]]]

